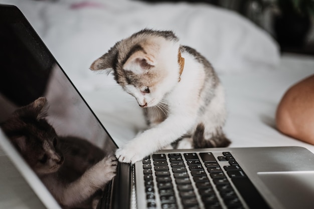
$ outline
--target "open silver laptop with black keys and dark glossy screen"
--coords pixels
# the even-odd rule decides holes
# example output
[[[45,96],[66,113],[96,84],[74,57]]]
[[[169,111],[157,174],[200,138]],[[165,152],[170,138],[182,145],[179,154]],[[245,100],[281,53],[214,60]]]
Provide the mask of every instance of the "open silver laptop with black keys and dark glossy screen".
[[[114,139],[15,6],[0,5],[0,42],[0,122],[45,96],[58,133],[114,152]],[[60,208],[1,130],[0,145],[2,189],[23,185],[0,199],[28,194],[20,198],[26,208]],[[13,173],[19,184],[6,181]],[[302,147],[161,150],[119,163],[97,208],[313,208],[313,193],[314,154]]]

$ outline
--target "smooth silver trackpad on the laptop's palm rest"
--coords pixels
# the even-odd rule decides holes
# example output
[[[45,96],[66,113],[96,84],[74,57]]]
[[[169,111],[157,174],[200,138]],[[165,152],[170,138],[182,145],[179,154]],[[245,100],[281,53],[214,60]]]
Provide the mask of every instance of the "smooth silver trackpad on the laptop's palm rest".
[[[313,208],[314,171],[257,174],[285,208]]]

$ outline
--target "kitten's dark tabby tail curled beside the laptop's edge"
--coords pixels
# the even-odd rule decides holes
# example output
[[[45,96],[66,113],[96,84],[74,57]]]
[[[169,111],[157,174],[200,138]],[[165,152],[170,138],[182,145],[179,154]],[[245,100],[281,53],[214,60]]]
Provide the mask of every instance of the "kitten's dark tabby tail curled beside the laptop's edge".
[[[194,148],[211,148],[211,147],[227,147],[231,141],[225,136],[222,128],[216,129],[212,137],[206,139],[204,136],[205,126],[203,123],[198,124],[193,135]]]

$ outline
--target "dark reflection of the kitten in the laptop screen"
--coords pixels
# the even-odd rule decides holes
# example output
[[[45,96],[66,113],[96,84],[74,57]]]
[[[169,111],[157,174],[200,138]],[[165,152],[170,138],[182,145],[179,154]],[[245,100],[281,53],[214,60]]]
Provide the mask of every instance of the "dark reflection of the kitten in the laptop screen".
[[[96,208],[95,192],[115,175],[116,158],[86,140],[59,137],[47,110],[41,97],[0,126],[63,208]]]

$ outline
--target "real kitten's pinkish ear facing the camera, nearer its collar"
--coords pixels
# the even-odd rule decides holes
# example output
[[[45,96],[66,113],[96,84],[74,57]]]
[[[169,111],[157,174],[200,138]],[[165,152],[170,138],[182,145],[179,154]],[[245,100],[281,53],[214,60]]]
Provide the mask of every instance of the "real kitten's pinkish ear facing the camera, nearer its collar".
[[[123,69],[132,71],[135,74],[141,74],[149,70],[156,65],[156,61],[153,56],[148,55],[142,51],[135,52],[123,65]]]

